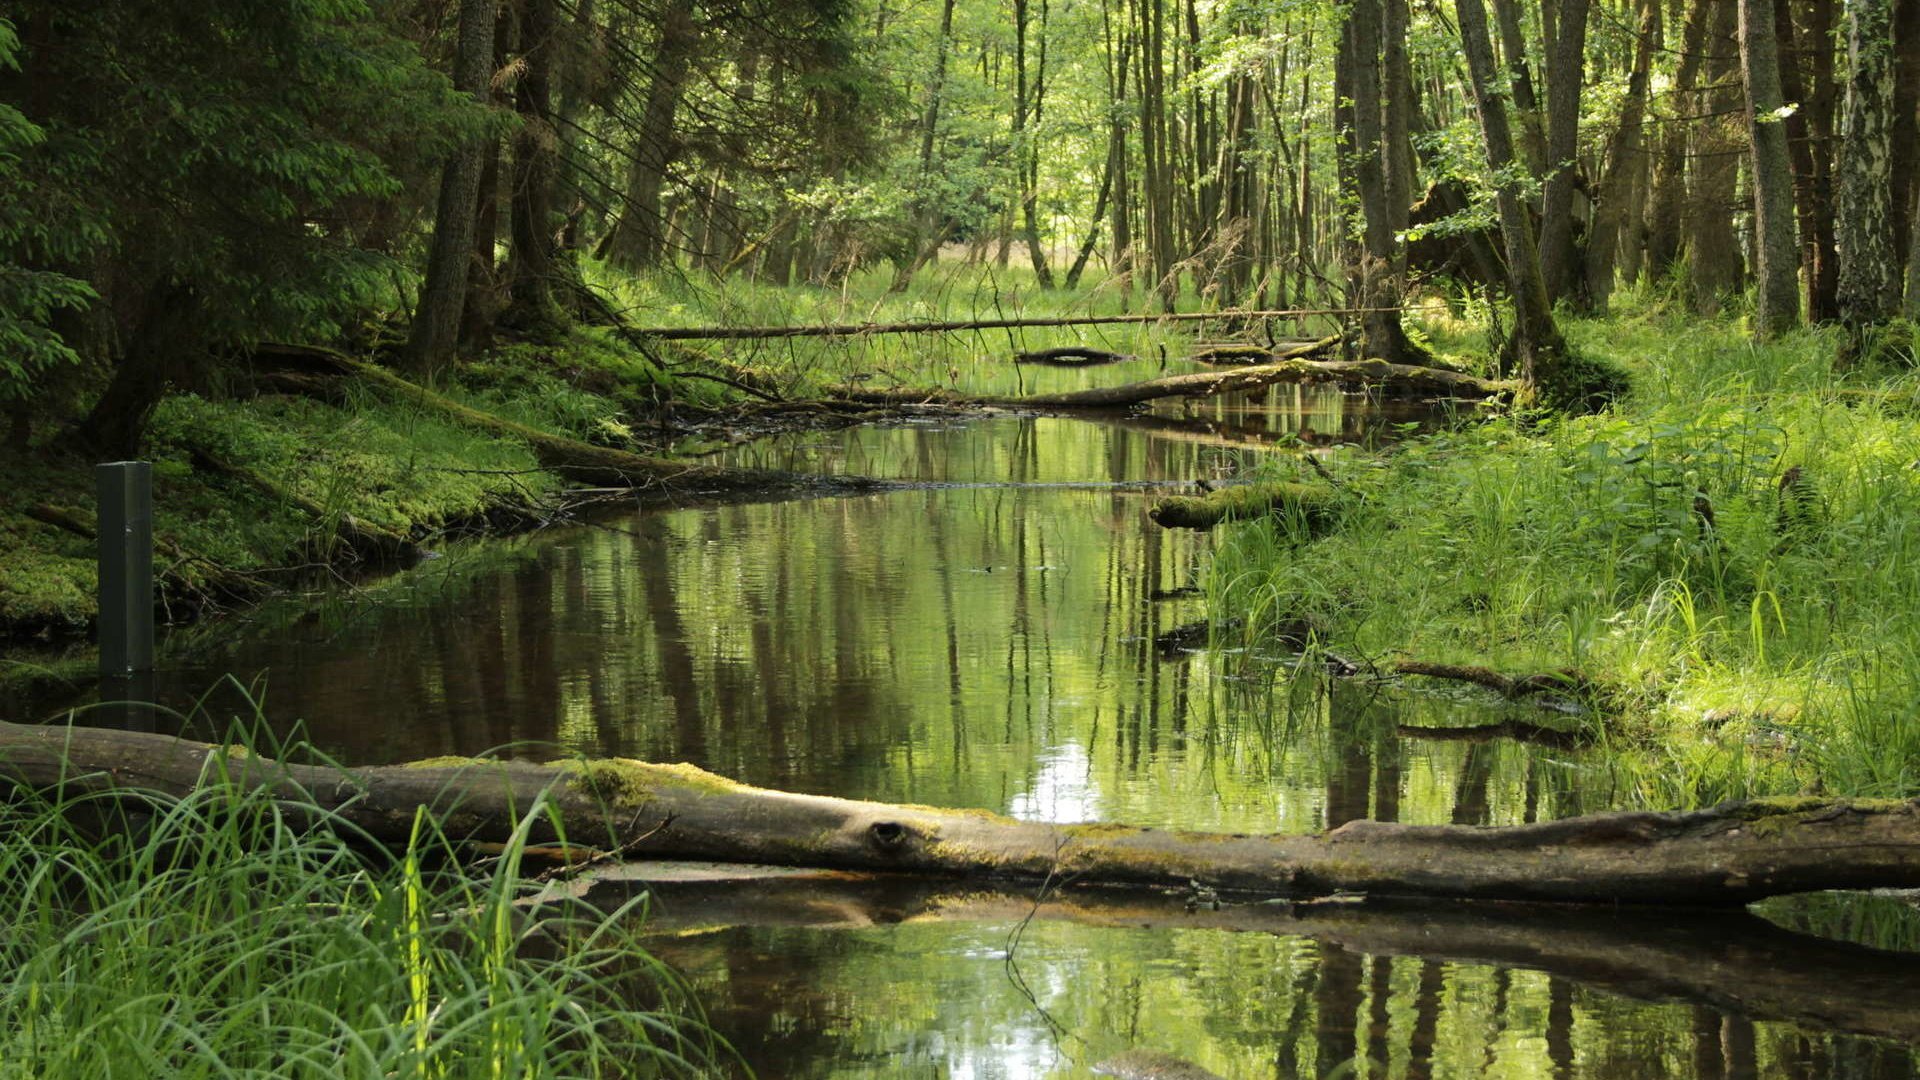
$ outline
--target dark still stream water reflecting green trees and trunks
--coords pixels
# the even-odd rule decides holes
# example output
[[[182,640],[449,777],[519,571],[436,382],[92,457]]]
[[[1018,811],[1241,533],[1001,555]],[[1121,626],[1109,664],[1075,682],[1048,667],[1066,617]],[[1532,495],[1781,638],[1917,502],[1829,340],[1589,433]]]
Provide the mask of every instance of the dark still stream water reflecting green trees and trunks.
[[[1396,423],[1283,390],[1125,423],[749,446],[732,459],[948,486],[628,513],[455,552],[180,638],[157,696],[184,711],[205,694],[217,721],[248,711],[232,684],[207,694],[232,675],[355,763],[628,755],[1039,821],[1315,830],[1617,805],[1588,753],[1405,730],[1488,719],[1480,698],[1156,646],[1202,615],[1164,596],[1204,580],[1213,540],[1148,525],[1154,484],[1233,475],[1281,432],[1367,442]],[[1759,919],[1192,917],[1173,899],[1025,922],[1021,897],[966,894],[726,917],[739,897],[664,892],[659,951],[760,1076],[1089,1076],[1133,1047],[1231,1078],[1914,1074],[1899,1042],[1847,1034],[1908,1030],[1847,1005],[1849,970],[1880,970],[1901,1001],[1905,969]],[[1772,915],[1920,938],[1903,903],[1822,903]]]

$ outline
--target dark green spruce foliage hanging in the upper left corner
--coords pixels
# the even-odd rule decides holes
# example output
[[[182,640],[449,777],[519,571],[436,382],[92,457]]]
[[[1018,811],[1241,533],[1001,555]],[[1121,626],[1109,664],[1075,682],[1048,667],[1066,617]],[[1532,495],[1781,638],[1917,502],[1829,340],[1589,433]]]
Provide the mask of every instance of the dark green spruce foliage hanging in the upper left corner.
[[[77,354],[127,357],[152,396],[209,350],[338,332],[386,288],[367,236],[401,177],[486,123],[384,0],[35,0],[13,17],[33,33],[8,31],[0,63],[33,92],[0,111],[0,344],[21,346],[0,396]],[[56,334],[88,300],[94,319]]]

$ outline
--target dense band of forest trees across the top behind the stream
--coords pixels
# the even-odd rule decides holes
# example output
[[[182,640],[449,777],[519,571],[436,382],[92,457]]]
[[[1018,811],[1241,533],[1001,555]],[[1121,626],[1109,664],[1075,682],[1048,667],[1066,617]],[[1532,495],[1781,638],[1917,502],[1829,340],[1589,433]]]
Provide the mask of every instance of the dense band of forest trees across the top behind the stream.
[[[1849,352],[1920,309],[1914,0],[29,0],[0,65],[13,450],[132,454],[263,340],[432,377],[622,271],[1016,261],[1392,359],[1492,294],[1548,390],[1622,284]]]

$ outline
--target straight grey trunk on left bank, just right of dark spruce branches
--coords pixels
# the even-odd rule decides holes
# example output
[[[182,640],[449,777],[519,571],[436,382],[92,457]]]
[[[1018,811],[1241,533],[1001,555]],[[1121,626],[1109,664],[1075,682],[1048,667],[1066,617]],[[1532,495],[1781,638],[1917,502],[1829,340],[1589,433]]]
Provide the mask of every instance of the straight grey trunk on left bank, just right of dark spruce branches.
[[[486,104],[490,98],[495,6],[497,0],[461,0],[453,88],[472,96],[476,104]],[[407,334],[407,369],[417,379],[430,379],[445,367],[459,344],[474,250],[474,209],[490,146],[492,140],[461,146],[440,173],[434,244],[426,258],[420,304],[413,311],[413,327]]]

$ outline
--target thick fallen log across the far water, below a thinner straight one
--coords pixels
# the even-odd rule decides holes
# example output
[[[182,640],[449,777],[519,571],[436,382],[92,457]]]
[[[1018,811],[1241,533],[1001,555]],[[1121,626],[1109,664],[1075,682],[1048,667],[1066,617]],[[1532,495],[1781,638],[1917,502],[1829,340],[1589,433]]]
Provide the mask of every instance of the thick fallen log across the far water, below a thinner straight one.
[[[1415,398],[1492,398],[1513,390],[1509,382],[1492,382],[1440,367],[1413,367],[1384,359],[1298,359],[1306,350],[1323,348],[1323,338],[1302,346],[1296,354],[1273,363],[1235,367],[1229,371],[1196,371],[1164,375],[1123,386],[1096,386],[1062,394],[958,394],[945,388],[922,390],[862,390],[843,386],[837,398],[881,405],[993,405],[1016,409],[1125,409],[1160,398],[1206,398],[1260,390],[1279,382],[1338,382],[1342,386],[1373,386]]]

